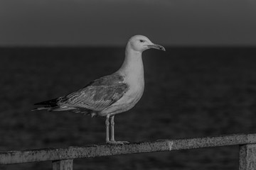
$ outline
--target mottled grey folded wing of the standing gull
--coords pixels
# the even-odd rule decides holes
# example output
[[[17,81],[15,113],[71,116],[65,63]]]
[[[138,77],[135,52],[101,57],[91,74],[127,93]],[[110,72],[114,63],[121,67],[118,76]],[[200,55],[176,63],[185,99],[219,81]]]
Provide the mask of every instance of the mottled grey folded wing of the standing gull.
[[[122,98],[128,88],[122,76],[112,74],[96,79],[84,88],[59,98],[57,104],[61,107],[102,111]]]

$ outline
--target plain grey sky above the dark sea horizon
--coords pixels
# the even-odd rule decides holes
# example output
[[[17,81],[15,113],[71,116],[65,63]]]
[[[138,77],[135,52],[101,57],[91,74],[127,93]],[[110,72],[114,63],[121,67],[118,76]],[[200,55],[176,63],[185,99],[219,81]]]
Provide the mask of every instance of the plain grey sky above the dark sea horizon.
[[[255,0],[2,0],[0,46],[255,46]]]

